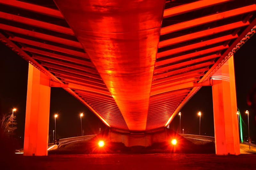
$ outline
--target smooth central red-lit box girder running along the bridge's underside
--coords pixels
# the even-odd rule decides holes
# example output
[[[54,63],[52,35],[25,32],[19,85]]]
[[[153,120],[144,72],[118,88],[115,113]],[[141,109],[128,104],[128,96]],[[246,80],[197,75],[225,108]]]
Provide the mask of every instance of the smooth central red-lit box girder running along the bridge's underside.
[[[164,0],[55,3],[97,68],[128,129],[145,131]]]

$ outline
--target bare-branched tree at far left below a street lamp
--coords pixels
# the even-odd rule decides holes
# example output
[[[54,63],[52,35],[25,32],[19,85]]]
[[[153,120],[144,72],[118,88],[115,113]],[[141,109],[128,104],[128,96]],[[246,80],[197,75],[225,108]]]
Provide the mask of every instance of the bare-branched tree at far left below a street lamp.
[[[14,131],[17,129],[16,116],[13,115],[13,122],[12,122],[12,114],[1,115],[0,128],[2,129],[3,133],[6,135],[12,134],[12,130],[14,134]]]

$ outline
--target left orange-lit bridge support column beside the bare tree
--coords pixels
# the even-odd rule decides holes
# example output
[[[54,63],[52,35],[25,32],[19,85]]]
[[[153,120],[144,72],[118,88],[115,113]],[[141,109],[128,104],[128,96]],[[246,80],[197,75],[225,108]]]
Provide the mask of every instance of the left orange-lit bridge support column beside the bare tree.
[[[24,136],[24,156],[48,154],[50,78],[32,64],[28,67],[28,91]]]

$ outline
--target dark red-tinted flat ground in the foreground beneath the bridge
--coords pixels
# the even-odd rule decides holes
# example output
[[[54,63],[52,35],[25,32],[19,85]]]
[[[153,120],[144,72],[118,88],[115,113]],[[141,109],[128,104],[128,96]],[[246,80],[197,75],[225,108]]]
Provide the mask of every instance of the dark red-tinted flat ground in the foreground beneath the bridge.
[[[12,163],[4,169],[255,169],[255,160],[254,154],[52,154],[48,157],[15,155]]]

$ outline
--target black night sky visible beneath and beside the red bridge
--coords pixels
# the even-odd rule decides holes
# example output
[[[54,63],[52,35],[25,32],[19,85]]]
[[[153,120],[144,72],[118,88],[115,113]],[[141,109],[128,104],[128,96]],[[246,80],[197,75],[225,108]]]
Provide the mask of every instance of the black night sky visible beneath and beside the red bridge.
[[[252,36],[245,45],[235,53],[236,95],[237,107],[241,111],[244,124],[244,135],[248,135],[247,115],[245,110],[250,111],[250,135],[255,137],[255,121],[252,110],[246,104],[248,91],[256,84],[256,35]],[[17,136],[24,136],[28,62],[23,60],[11,49],[0,43],[0,114],[11,113],[12,108],[17,108]],[[201,111],[201,134],[214,135],[212,88],[202,87],[181,110],[181,129],[184,133],[199,133],[199,117]],[[80,113],[84,113],[82,124],[84,134],[98,133],[106,126],[79,100],[61,88],[51,88],[50,103],[50,127],[54,129],[54,114],[58,113],[56,119],[57,134],[60,138],[81,135]],[[234,113],[235,114],[235,113]],[[170,127],[179,132],[179,116],[176,116]],[[181,130],[182,132],[182,130]],[[51,133],[51,132],[50,132]]]

